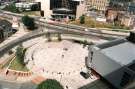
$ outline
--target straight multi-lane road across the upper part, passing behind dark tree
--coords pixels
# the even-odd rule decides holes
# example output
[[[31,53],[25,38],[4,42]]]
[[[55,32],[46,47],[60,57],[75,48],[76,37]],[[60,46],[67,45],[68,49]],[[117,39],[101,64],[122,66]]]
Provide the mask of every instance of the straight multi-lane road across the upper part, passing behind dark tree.
[[[11,12],[7,12],[7,11],[0,11],[0,16],[7,18],[9,20],[12,20],[13,16],[17,17],[19,21],[21,21],[21,17],[24,16],[22,14],[16,14],[16,13],[11,13]],[[35,19],[35,23],[43,26],[43,27],[52,27],[52,26],[57,26],[57,27],[63,27],[65,29],[72,29],[72,30],[77,30],[77,31],[84,31],[84,29],[86,27],[82,27],[82,26],[77,26],[77,25],[72,25],[72,24],[62,24],[62,23],[50,23],[50,22],[46,22],[46,21],[41,21],[40,17],[37,16],[31,16]],[[99,30],[100,29],[100,30]],[[125,32],[115,32],[115,31],[111,31],[114,29],[108,29],[105,30],[105,28],[88,28],[88,33],[93,33],[93,34],[98,34],[98,35],[105,35],[105,36],[109,36],[109,37],[125,37],[128,35],[128,33]]]

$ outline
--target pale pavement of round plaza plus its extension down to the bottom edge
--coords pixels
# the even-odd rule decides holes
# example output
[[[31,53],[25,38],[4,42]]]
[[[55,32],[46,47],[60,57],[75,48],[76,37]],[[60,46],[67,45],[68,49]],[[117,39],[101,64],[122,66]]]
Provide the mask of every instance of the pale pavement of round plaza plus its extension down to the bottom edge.
[[[80,75],[81,71],[86,70],[84,64],[85,57],[88,56],[88,50],[83,48],[83,45],[66,40],[47,43],[44,38],[38,39],[36,38],[38,42],[27,50],[25,57],[25,61],[29,60],[27,67],[34,73],[58,80],[64,89],[67,89],[67,86],[68,89],[109,89],[102,81],[104,86],[100,87],[100,82],[96,83],[99,81],[96,76],[91,75],[84,79]],[[24,45],[26,43],[28,41],[24,42]]]

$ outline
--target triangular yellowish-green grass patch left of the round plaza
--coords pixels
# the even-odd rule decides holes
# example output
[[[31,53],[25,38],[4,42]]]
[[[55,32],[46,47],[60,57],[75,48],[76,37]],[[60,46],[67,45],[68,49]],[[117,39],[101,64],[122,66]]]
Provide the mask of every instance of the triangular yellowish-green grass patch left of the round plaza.
[[[9,66],[9,69],[24,72],[29,71],[27,67],[24,64],[22,64],[17,57],[12,61],[11,65]]]

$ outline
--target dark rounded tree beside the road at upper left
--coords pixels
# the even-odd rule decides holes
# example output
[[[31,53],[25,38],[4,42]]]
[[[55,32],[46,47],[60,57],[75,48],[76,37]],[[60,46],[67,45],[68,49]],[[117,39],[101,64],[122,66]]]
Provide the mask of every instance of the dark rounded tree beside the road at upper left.
[[[29,30],[34,30],[35,29],[35,23],[34,19],[29,17],[29,16],[23,16],[22,17],[22,22],[23,24],[29,29]]]

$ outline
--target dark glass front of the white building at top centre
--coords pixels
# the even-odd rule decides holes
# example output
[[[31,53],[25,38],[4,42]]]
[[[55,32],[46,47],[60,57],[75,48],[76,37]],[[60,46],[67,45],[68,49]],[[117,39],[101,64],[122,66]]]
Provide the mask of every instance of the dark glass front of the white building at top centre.
[[[75,16],[77,5],[79,5],[79,2],[73,0],[50,0],[50,10],[53,11],[52,17]]]

